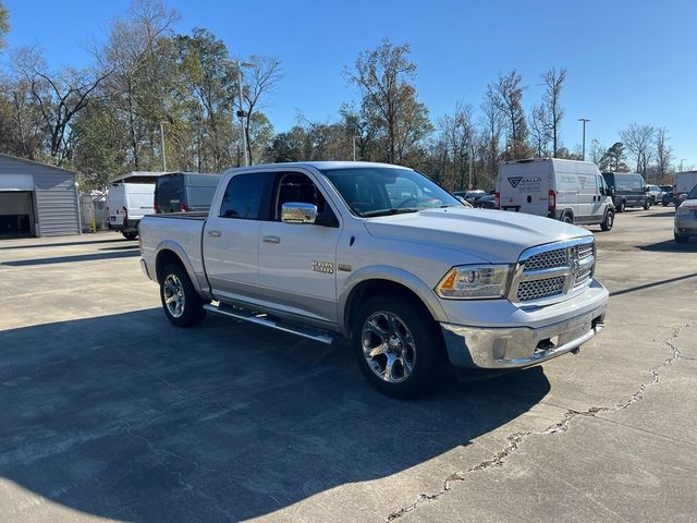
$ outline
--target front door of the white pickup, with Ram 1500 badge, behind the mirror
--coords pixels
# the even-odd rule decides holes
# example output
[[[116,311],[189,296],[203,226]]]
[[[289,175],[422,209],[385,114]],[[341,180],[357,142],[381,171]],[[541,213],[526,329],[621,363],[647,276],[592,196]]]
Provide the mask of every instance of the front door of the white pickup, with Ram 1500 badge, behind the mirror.
[[[316,205],[321,221],[333,223],[284,223],[281,209],[286,203]],[[337,323],[335,264],[341,234],[337,216],[310,177],[302,172],[277,174],[271,219],[261,223],[259,232],[259,280],[269,307]]]

